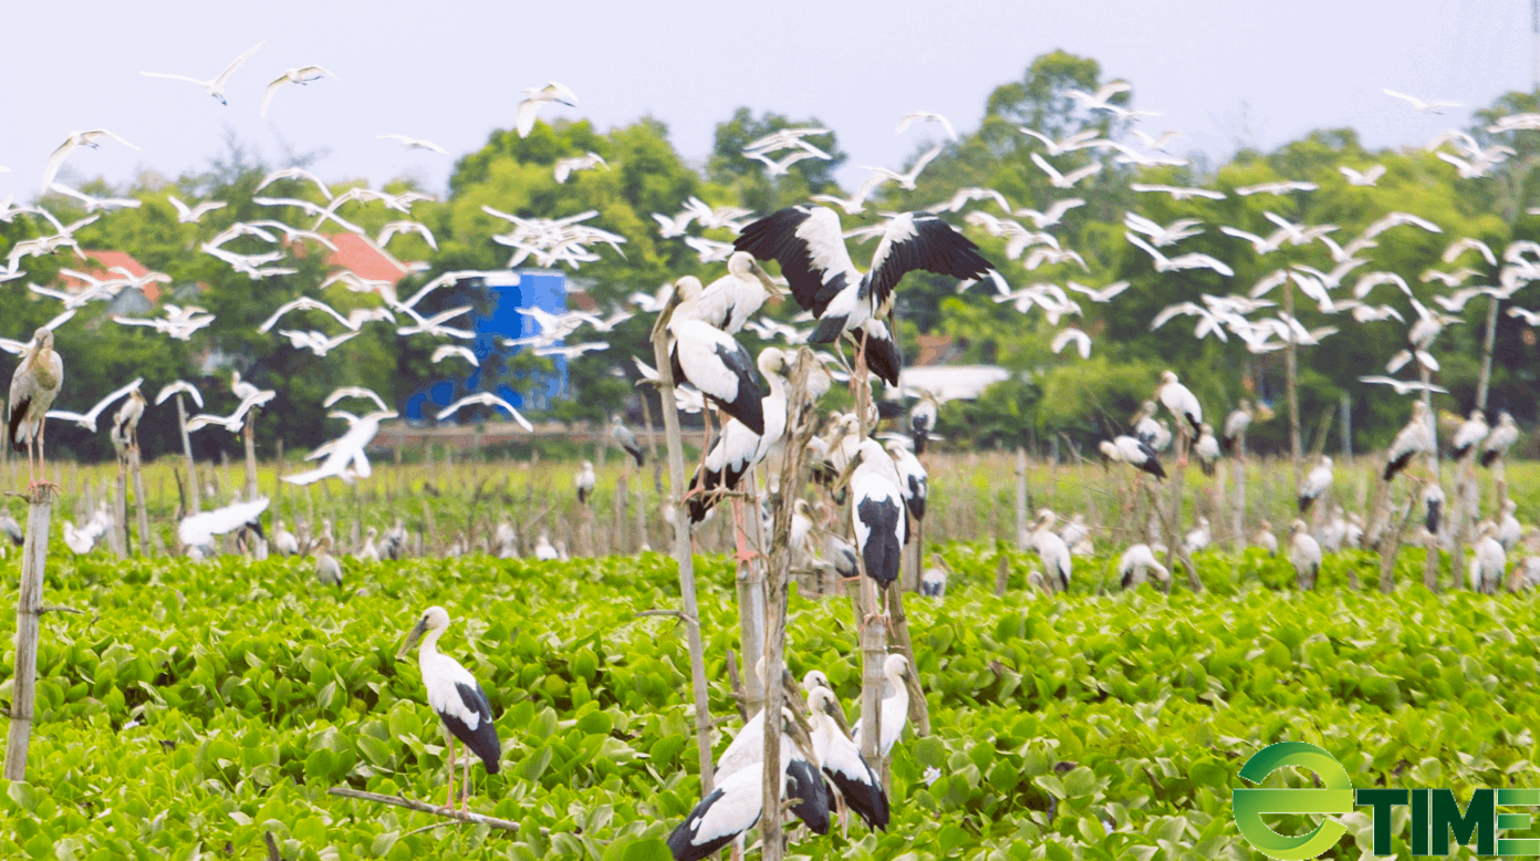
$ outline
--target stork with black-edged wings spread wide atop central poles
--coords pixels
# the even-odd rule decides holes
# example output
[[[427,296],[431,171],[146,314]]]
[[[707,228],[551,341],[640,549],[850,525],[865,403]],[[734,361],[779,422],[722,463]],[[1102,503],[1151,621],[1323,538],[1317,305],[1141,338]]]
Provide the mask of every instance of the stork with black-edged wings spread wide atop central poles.
[[[961,233],[935,216],[904,213],[882,228],[872,254],[872,266],[856,270],[845,248],[839,216],[827,206],[788,206],[747,225],[733,248],[748,251],[761,260],[778,260],[781,274],[792,285],[792,296],[804,311],[812,311],[818,327],[810,343],[833,343],[842,333],[865,331],[865,348],[873,353],[873,340],[882,340],[882,353],[898,350],[886,330],[879,334],[867,328],[867,320],[882,320],[893,303],[893,288],[913,270],[924,270],[955,279],[979,279],[990,263]],[[889,350],[890,348],[890,350]],[[898,368],[870,363],[892,385],[898,385]],[[889,374],[890,371],[890,374]]]

